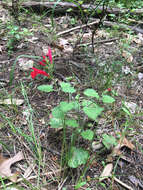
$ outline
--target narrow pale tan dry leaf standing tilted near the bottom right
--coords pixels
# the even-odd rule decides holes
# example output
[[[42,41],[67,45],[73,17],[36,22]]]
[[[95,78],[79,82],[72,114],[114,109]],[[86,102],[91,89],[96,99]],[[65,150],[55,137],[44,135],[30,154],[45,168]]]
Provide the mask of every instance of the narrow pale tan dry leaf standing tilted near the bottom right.
[[[104,179],[108,178],[111,176],[111,172],[113,170],[113,164],[107,164],[103,170],[103,172],[100,175],[99,181],[103,181]]]

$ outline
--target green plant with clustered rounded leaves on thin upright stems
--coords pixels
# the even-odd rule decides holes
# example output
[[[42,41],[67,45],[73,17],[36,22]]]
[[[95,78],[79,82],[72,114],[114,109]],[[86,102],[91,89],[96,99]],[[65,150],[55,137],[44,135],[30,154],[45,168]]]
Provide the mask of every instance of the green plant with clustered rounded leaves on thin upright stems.
[[[44,92],[54,91],[52,85],[41,85],[39,90]],[[68,93],[68,101],[61,101],[59,105],[52,109],[52,118],[50,125],[52,128],[62,128],[62,157],[61,166],[77,168],[80,165],[85,165],[90,158],[89,152],[84,148],[77,147],[76,142],[81,138],[89,142],[94,138],[94,130],[86,129],[85,122],[87,118],[97,121],[98,116],[103,113],[106,104],[112,104],[115,99],[107,95],[108,90],[102,93],[101,96],[94,89],[86,89],[83,94],[76,94],[76,89],[70,83],[61,82],[60,90]],[[102,106],[101,106],[102,105]],[[71,131],[71,136],[68,138],[68,130]]]

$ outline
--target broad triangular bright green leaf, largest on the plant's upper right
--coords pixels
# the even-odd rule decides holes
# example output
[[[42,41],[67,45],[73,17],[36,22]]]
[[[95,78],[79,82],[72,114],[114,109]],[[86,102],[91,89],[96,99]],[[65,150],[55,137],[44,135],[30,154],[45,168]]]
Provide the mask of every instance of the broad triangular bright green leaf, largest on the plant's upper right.
[[[96,120],[97,117],[101,114],[101,112],[104,109],[97,106],[96,108],[92,108],[92,107],[84,107],[83,111],[84,113],[91,119]]]

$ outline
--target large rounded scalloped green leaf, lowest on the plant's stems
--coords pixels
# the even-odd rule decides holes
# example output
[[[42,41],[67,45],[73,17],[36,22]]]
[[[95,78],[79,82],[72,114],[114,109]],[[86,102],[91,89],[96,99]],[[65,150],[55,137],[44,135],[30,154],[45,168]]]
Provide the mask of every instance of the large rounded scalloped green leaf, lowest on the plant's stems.
[[[89,158],[89,154],[87,151],[82,148],[72,147],[70,151],[70,158],[68,161],[68,166],[71,168],[77,168],[82,164],[86,164]]]

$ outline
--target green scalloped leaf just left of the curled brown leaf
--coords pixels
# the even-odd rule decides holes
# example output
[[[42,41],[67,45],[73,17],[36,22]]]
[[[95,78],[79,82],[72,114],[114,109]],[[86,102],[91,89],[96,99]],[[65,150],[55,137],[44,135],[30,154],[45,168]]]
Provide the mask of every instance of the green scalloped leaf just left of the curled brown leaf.
[[[115,137],[111,136],[111,135],[107,135],[107,134],[103,134],[102,135],[103,140],[102,143],[104,144],[104,146],[107,149],[110,149],[111,146],[116,146],[117,145],[117,141],[115,139]]]

